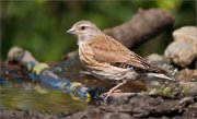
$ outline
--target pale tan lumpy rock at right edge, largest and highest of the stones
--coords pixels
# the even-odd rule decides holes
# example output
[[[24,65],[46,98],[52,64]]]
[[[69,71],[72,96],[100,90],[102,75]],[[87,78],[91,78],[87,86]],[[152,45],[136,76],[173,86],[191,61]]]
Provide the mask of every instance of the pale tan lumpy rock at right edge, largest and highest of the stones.
[[[173,33],[174,41],[165,49],[164,55],[175,64],[186,68],[197,56],[197,27],[185,26]]]

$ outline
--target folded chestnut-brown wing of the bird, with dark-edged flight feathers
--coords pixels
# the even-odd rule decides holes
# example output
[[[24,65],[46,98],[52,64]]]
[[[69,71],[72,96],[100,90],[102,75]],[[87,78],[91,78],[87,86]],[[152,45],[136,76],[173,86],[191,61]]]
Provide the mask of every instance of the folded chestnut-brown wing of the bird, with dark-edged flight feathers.
[[[143,71],[166,73],[165,71],[150,66],[143,58],[130,51],[109,36],[96,36],[90,40],[94,59],[99,62],[109,63],[118,68],[132,68]]]

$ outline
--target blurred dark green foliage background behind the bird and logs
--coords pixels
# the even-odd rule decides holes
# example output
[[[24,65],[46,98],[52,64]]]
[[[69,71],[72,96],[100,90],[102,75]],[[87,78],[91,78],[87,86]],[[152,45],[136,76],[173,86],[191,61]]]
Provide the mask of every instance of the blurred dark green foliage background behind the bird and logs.
[[[74,22],[90,20],[104,29],[129,21],[139,8],[161,8],[171,12],[175,16],[173,29],[196,25],[195,0],[1,1],[0,59],[4,61],[9,49],[20,46],[31,50],[39,61],[58,61],[78,48],[76,38],[65,33]],[[173,29],[135,51],[142,56],[162,53],[172,40]]]

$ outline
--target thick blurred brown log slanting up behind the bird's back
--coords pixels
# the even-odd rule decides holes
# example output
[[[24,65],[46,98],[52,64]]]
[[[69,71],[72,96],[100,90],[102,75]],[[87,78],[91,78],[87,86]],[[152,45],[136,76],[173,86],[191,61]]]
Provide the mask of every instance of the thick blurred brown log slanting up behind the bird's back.
[[[172,14],[160,9],[141,10],[121,25],[104,32],[128,48],[134,48],[149,40],[174,22]]]

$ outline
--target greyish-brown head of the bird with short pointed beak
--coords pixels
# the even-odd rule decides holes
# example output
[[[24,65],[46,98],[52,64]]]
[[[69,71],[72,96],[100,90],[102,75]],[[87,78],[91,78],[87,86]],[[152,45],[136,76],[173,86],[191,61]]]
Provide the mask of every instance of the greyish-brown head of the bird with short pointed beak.
[[[81,43],[100,35],[102,32],[90,21],[79,21],[73,24],[73,26],[67,31],[67,33],[77,36],[78,40]]]

